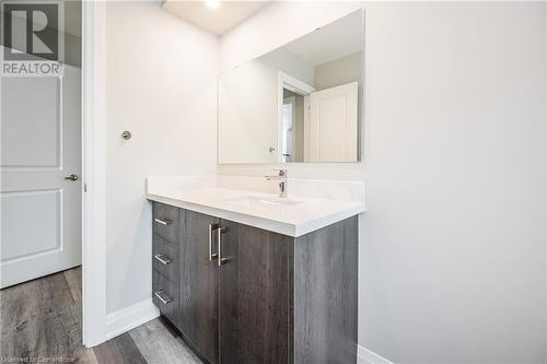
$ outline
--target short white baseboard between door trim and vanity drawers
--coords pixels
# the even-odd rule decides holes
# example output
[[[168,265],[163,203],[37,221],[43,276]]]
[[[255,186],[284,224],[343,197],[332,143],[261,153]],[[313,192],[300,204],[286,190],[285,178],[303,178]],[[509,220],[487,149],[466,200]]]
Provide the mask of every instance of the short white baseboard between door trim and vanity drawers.
[[[160,316],[160,312],[152,303],[152,298],[106,315],[106,340],[127,332],[158,316]]]

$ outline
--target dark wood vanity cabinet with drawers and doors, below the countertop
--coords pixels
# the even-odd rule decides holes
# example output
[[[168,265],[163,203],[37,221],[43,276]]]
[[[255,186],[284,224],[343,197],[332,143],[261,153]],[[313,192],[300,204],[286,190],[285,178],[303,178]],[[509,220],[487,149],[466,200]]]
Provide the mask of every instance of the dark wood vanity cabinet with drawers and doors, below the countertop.
[[[153,204],[154,303],[203,361],[357,362],[357,216],[294,238]],[[163,265],[171,209],[177,249]]]

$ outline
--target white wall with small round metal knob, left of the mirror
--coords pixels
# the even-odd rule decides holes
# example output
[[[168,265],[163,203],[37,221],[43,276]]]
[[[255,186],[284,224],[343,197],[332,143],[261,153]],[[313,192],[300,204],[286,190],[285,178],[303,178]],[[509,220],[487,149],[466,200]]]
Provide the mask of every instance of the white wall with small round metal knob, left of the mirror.
[[[151,295],[149,175],[214,173],[218,38],[160,8],[108,2],[107,313]],[[132,139],[120,138],[124,130]]]

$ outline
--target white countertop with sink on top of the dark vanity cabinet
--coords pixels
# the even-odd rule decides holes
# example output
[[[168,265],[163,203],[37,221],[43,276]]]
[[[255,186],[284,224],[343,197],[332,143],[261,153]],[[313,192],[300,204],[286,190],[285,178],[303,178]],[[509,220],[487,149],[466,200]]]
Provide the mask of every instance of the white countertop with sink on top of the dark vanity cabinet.
[[[289,185],[290,186],[290,185]],[[299,197],[289,193],[289,206],[257,206],[241,203],[247,197],[279,199],[277,195],[207,187],[189,189],[150,188],[147,198],[178,208],[231,220],[237,223],[272,231],[289,236],[301,236],[324,226],[364,212],[363,202],[324,198]]]

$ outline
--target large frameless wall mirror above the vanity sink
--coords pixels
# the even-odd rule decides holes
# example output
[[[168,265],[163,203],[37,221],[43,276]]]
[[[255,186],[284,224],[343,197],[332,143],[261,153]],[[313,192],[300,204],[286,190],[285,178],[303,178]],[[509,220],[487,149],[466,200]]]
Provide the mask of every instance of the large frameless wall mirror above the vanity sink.
[[[219,164],[358,162],[363,11],[219,77]]]

